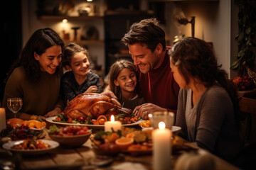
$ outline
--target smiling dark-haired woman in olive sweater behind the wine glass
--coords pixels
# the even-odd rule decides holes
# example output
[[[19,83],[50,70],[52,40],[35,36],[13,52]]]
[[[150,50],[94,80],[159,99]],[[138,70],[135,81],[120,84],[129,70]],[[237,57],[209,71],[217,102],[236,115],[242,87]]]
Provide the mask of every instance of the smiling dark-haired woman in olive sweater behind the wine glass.
[[[36,30],[29,38],[7,74],[3,100],[6,118],[13,117],[6,105],[7,98],[11,97],[23,99],[17,116],[24,120],[31,119],[31,115],[50,117],[61,112],[64,106],[59,98],[63,46],[63,40],[50,28]]]

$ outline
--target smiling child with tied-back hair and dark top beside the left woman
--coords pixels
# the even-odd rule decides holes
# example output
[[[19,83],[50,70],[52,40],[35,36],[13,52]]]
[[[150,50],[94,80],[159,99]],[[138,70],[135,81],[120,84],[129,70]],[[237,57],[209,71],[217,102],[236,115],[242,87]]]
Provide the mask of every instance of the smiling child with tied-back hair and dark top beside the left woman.
[[[68,69],[61,79],[65,104],[82,93],[100,93],[100,77],[90,70],[89,53],[85,48],[70,43],[63,50],[63,66]]]

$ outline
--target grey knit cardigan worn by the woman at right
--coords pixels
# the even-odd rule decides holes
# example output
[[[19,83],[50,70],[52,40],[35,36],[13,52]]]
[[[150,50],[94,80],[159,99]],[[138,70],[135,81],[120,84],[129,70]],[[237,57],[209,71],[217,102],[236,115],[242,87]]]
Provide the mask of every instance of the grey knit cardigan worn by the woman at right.
[[[191,89],[181,89],[178,96],[176,126],[181,137],[230,161],[240,150],[238,125],[233,103],[221,86],[208,88],[192,105]]]

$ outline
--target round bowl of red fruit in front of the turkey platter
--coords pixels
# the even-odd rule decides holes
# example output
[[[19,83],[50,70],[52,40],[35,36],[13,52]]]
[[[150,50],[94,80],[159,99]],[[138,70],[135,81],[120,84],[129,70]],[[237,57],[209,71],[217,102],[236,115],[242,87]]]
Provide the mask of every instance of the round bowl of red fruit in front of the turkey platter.
[[[60,144],[61,147],[81,147],[90,138],[92,132],[86,126],[70,125],[58,128],[50,126],[48,130],[50,138]]]

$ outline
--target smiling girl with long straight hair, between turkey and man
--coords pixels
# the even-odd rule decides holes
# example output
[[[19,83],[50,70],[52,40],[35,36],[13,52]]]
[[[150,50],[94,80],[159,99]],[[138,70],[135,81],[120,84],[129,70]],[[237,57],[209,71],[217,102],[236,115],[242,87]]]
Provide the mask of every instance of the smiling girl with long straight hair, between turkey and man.
[[[140,96],[135,66],[128,60],[119,60],[110,67],[110,90],[117,96],[123,108],[134,110],[144,103]]]

